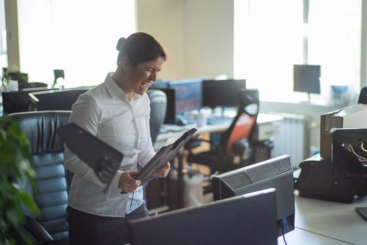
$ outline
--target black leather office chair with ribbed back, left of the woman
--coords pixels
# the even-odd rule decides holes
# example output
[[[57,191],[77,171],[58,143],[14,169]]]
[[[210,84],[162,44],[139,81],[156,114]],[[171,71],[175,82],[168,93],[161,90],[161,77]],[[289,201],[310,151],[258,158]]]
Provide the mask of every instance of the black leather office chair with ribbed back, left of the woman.
[[[67,198],[72,174],[64,169],[64,144],[57,127],[69,123],[70,111],[36,111],[9,116],[20,124],[31,143],[36,190],[27,186],[41,215],[27,214],[25,230],[37,244],[69,244]]]

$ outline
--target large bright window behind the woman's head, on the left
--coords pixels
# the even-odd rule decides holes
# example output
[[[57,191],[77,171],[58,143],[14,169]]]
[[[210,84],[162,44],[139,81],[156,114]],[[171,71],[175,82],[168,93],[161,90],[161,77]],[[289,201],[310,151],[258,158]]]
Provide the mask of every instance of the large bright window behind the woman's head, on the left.
[[[97,85],[115,71],[118,38],[135,31],[134,0],[18,0],[20,70],[65,87]]]

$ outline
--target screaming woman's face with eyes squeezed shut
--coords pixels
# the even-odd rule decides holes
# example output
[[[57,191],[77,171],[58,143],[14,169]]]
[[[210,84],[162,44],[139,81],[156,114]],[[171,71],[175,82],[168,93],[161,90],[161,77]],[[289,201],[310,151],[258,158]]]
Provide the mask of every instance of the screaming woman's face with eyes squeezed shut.
[[[134,92],[136,94],[144,94],[149,86],[158,78],[158,72],[162,69],[165,59],[158,59],[142,62],[137,66],[127,66],[124,72],[124,88],[126,93]]]

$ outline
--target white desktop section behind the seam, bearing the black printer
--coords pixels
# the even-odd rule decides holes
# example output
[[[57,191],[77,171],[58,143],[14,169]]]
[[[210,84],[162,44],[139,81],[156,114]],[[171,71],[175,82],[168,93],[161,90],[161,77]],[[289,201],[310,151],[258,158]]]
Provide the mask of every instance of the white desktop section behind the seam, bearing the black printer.
[[[367,207],[367,196],[351,204],[296,197],[295,226],[350,244],[367,244],[367,221],[355,207]]]

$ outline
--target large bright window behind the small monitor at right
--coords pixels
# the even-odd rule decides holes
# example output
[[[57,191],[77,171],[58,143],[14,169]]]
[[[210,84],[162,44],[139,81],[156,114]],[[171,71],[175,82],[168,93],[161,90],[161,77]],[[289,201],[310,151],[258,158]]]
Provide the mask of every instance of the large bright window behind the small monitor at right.
[[[361,0],[235,0],[234,39],[235,78],[263,100],[307,99],[293,92],[293,64],[321,65],[314,98],[331,85],[359,87]]]

